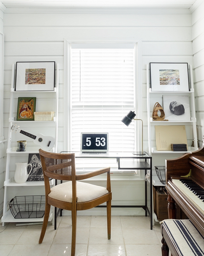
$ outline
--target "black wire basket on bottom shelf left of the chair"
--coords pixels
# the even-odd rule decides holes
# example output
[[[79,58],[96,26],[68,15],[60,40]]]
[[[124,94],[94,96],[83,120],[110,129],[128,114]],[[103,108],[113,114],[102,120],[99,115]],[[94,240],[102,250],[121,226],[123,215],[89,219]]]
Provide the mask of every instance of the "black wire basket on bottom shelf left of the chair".
[[[45,195],[15,196],[9,207],[15,219],[42,218],[45,214]]]

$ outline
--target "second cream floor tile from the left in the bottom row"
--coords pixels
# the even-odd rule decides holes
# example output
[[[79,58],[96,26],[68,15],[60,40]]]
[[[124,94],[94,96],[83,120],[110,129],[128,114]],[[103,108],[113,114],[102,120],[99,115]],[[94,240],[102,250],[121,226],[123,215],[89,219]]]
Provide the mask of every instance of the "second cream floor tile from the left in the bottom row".
[[[46,256],[50,245],[14,245],[9,256]]]

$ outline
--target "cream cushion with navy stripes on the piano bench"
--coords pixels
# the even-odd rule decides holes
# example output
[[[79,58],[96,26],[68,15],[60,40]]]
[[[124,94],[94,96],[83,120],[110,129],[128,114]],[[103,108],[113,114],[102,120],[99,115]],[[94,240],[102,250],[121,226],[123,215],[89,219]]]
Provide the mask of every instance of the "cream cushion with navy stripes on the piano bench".
[[[160,223],[181,256],[204,256],[204,238],[190,220],[168,219]]]

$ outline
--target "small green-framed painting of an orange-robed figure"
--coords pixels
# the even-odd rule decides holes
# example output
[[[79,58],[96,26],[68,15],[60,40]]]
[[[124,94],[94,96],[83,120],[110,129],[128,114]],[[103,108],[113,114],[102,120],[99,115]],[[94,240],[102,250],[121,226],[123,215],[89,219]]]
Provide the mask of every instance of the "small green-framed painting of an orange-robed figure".
[[[19,97],[17,108],[17,121],[33,121],[36,111],[36,97]]]

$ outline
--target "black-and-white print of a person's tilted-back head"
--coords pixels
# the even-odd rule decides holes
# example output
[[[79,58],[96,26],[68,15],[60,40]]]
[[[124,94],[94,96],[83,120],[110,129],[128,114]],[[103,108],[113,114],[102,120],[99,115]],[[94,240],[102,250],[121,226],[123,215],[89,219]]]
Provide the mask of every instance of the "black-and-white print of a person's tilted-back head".
[[[165,118],[169,121],[190,121],[188,95],[163,95]]]

